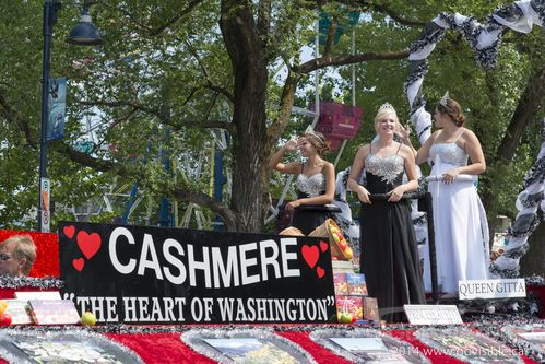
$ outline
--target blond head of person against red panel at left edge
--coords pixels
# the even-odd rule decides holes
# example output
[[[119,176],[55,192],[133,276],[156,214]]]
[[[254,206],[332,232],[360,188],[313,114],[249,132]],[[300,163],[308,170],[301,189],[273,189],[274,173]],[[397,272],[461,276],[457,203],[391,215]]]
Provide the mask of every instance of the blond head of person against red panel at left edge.
[[[15,235],[0,243],[0,274],[28,275],[36,260],[36,245],[28,235]]]

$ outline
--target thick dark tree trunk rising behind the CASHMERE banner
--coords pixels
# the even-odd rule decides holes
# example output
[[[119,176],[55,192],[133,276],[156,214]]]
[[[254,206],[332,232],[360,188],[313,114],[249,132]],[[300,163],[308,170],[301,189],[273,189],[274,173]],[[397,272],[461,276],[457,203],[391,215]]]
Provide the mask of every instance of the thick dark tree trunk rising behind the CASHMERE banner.
[[[235,77],[233,124],[233,192],[230,208],[236,228],[261,232],[269,192],[266,173],[266,61],[251,7],[222,1],[220,26]]]

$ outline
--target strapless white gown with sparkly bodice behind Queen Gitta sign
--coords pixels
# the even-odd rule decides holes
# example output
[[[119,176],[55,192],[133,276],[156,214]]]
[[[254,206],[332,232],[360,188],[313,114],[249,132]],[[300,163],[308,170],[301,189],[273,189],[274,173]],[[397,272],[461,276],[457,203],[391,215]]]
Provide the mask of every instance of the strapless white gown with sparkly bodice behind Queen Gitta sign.
[[[455,142],[436,143],[431,176],[467,164],[467,154]],[[464,176],[466,177],[466,176]],[[489,248],[486,214],[474,181],[463,177],[452,184],[429,181],[433,196],[437,275],[442,292],[458,292],[459,280],[488,279]],[[429,280],[429,274],[424,274]],[[429,281],[426,282],[429,286]]]

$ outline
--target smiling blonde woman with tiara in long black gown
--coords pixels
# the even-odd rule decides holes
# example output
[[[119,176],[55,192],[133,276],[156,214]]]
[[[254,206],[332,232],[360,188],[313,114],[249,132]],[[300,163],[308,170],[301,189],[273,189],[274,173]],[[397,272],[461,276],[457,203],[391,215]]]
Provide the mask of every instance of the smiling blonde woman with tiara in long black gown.
[[[382,105],[375,117],[379,138],[358,150],[348,178],[349,189],[362,201],[362,272],[369,296],[377,297],[381,319],[389,322],[405,320],[403,305],[425,303],[410,201],[402,199],[418,188],[415,160],[408,146],[393,140],[396,122],[394,108]],[[364,168],[366,186],[357,183]],[[388,199],[370,199],[375,193]]]

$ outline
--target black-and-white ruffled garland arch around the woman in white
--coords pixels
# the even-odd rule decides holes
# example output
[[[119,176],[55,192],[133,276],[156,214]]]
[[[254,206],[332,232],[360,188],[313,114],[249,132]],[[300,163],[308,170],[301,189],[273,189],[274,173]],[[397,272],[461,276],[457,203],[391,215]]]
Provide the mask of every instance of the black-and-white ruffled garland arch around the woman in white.
[[[411,48],[411,70],[404,89],[411,106],[411,122],[415,127],[420,144],[431,136],[431,115],[426,111],[423,95],[424,77],[428,72],[427,58],[434,51],[448,28],[459,31],[475,51],[476,62],[485,68],[496,67],[497,54],[506,28],[530,33],[533,25],[545,24],[545,0],[522,0],[494,10],[484,24],[474,17],[459,13],[440,13],[426,24]],[[545,133],[545,131],[544,131]],[[537,208],[545,211],[543,179],[545,175],[545,142],[537,161],[529,172],[524,190],[517,199],[519,214],[511,227],[505,254],[490,267],[494,277],[512,278],[519,273],[520,258],[528,250],[528,237],[537,227]],[[422,237],[417,236],[417,239]]]

